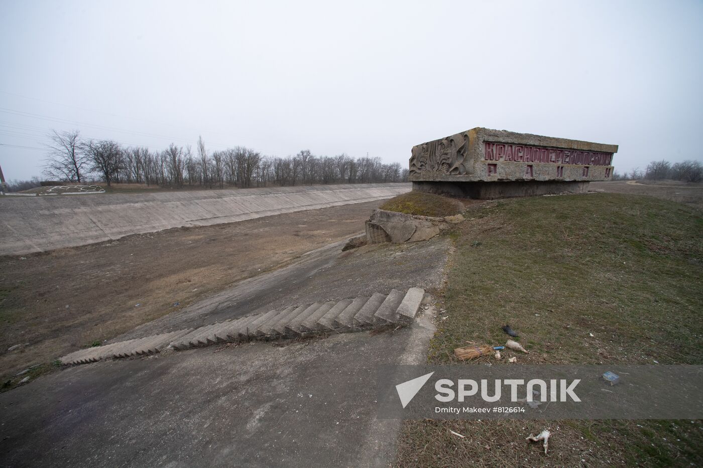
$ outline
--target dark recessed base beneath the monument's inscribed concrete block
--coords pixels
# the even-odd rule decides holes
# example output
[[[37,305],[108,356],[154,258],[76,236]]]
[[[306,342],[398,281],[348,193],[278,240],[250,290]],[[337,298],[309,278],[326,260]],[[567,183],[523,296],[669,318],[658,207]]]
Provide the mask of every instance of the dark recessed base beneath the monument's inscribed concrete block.
[[[534,195],[586,193],[588,192],[588,181],[413,181],[413,190],[452,197],[494,200],[496,198],[531,197]]]

